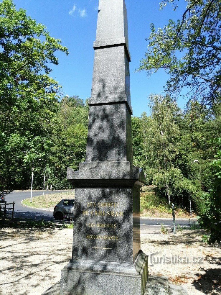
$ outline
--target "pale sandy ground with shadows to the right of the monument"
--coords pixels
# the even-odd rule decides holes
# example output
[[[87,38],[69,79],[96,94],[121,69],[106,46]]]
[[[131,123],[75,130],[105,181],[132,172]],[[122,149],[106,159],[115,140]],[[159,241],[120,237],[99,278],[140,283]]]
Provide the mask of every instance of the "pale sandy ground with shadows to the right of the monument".
[[[170,283],[185,284],[189,295],[221,294],[221,248],[201,242],[203,233],[183,230],[162,235],[156,231],[142,236],[145,253],[160,252],[149,259],[149,273],[169,276]]]

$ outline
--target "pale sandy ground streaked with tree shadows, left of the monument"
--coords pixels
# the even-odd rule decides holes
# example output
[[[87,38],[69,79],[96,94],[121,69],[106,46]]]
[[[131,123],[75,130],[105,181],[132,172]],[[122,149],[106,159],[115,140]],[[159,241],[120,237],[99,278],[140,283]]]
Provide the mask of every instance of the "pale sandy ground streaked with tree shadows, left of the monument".
[[[0,230],[0,294],[41,294],[60,279],[72,241],[64,243],[60,234],[53,237],[56,233],[44,228]]]

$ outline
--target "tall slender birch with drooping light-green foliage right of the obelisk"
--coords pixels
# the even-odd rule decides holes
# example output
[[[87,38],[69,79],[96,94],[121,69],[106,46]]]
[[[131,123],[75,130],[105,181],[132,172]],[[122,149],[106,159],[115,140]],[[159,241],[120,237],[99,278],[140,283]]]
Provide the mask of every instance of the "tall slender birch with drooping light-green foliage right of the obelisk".
[[[173,165],[178,153],[176,142],[179,136],[179,127],[173,122],[176,104],[160,95],[151,95],[149,99],[152,114],[146,134],[147,175],[159,189],[166,189],[170,204],[171,185],[181,174]]]

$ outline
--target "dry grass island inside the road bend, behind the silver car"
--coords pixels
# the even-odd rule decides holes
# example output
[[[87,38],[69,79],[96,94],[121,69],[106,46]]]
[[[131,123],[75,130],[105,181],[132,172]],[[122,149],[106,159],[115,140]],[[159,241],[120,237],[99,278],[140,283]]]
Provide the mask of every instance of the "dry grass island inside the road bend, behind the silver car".
[[[37,197],[32,197],[32,203],[30,198],[22,200],[22,204],[34,207],[34,208],[53,208],[62,199],[73,199],[75,197],[75,191],[61,192],[55,194],[46,194]]]

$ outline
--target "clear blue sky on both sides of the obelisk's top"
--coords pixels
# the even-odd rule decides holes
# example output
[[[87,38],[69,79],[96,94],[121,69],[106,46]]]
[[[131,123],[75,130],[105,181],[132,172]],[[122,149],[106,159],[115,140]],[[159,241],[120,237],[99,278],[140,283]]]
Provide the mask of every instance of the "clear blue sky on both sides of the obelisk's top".
[[[186,7],[179,1],[179,9],[171,6],[159,11],[159,0],[125,0],[128,13],[129,50],[131,54],[131,105],[133,115],[142,112],[150,114],[148,96],[151,93],[163,94],[167,76],[163,70],[149,79],[146,73],[134,73],[139,61],[145,57],[150,23],[156,28],[163,27],[169,19],[181,18]],[[14,0],[17,9],[22,7],[27,14],[44,24],[52,37],[62,40],[69,55],[57,53],[59,65],[53,66],[51,76],[62,85],[64,95],[78,95],[82,99],[90,97],[93,73],[93,41],[95,41],[98,15],[98,0]],[[178,100],[184,108],[186,101]]]

